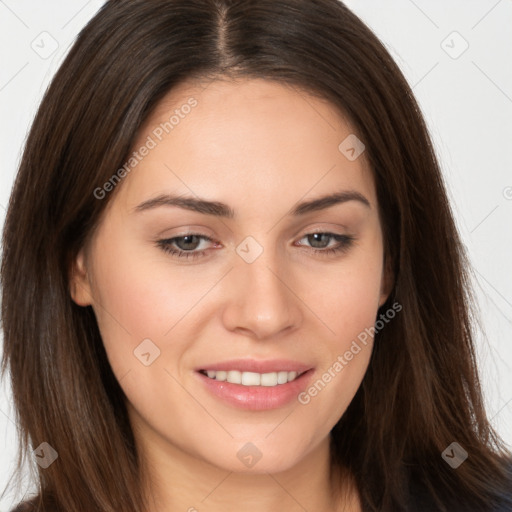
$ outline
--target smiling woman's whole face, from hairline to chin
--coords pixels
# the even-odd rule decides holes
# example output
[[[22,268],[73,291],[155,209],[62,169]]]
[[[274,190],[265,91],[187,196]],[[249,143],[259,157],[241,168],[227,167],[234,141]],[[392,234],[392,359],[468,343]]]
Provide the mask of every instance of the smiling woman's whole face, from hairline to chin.
[[[139,442],[254,472],[325,446],[387,298],[362,149],[332,105],[270,81],[160,103],[72,286]]]

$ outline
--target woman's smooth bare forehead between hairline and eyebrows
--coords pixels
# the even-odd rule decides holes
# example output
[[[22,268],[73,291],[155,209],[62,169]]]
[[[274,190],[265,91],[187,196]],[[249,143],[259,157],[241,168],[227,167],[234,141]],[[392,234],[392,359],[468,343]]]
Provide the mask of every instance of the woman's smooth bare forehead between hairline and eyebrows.
[[[151,149],[121,193],[127,205],[172,192],[265,208],[337,189],[357,189],[375,201],[364,153],[351,161],[339,148],[353,136],[334,105],[293,86],[183,82],[139,130],[134,150]]]

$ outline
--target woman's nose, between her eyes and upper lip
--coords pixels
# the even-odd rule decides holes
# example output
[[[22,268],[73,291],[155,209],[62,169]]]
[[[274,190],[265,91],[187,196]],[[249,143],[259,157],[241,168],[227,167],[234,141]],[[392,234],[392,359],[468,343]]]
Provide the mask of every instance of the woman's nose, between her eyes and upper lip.
[[[225,283],[228,300],[222,320],[226,329],[268,339],[300,326],[301,302],[284,266],[264,255],[252,263],[238,263]]]

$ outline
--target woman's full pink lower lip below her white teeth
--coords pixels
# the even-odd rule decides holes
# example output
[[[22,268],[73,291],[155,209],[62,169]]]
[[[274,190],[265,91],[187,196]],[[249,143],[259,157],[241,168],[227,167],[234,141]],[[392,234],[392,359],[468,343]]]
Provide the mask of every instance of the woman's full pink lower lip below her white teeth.
[[[277,386],[243,386],[227,381],[210,379],[210,377],[196,372],[206,388],[216,397],[239,409],[251,411],[264,411],[278,409],[297,400],[298,395],[304,391],[313,374],[313,369],[304,372],[292,382],[278,384]]]

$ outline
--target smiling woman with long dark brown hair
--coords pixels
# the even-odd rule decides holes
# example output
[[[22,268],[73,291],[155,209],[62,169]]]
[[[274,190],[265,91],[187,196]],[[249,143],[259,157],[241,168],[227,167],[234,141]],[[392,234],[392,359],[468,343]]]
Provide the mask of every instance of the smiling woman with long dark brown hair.
[[[107,2],[4,248],[23,509],[511,509],[425,124],[342,3]]]

